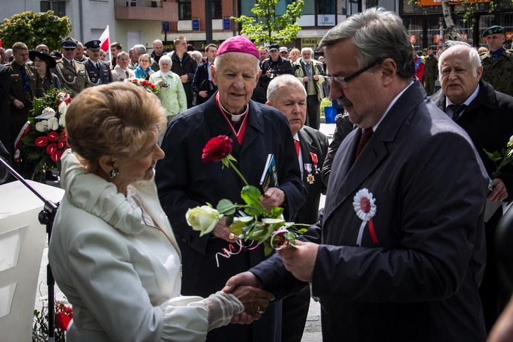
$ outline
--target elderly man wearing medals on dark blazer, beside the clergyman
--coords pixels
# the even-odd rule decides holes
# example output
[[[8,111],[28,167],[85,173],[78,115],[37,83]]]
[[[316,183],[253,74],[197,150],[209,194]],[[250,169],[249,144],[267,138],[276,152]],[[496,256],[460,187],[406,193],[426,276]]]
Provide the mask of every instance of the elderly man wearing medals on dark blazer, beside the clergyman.
[[[328,153],[328,138],[308,126],[306,122],[306,90],[292,75],[281,75],[269,82],[267,103],[281,111],[289,120],[295,149],[301,169],[301,179],[308,191],[306,201],[293,219],[295,223],[315,224],[319,220],[319,201],[326,194],[321,180],[321,169]],[[298,293],[282,301],[282,342],[301,342],[306,316],[310,306],[310,287],[303,286]]]

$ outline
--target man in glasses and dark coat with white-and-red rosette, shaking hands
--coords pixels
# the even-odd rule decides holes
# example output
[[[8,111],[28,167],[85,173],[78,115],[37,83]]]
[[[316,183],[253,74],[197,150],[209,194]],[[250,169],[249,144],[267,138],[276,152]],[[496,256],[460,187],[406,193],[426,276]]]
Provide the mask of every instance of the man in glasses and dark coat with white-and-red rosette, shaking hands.
[[[414,80],[397,14],[353,14],[319,46],[330,96],[358,129],[334,157],[324,212],[301,237],[308,242],[224,291],[253,285],[279,299],[311,282],[328,342],[485,341],[478,287],[488,178],[470,137]]]

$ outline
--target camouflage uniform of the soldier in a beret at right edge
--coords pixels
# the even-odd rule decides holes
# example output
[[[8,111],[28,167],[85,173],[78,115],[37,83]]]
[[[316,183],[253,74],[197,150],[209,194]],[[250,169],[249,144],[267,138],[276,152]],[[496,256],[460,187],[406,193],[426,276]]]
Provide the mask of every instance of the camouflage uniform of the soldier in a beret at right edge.
[[[482,53],[482,80],[490,83],[495,90],[513,96],[513,53],[502,51],[497,60],[493,60],[490,51]]]

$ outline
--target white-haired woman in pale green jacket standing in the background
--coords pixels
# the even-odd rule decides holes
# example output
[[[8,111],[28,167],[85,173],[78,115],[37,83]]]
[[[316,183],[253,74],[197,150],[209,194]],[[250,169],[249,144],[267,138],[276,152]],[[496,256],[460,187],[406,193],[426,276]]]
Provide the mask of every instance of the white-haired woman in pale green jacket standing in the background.
[[[159,60],[160,70],[150,76],[150,82],[160,87],[159,98],[166,109],[168,124],[176,114],[187,109],[187,97],[179,75],[171,71],[171,57],[163,55]]]

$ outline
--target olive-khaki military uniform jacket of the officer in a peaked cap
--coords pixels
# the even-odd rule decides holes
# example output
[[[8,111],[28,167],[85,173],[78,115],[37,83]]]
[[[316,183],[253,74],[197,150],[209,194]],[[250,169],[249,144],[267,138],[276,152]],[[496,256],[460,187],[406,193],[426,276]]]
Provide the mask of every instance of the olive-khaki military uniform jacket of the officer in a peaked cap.
[[[61,86],[71,91],[71,96],[77,96],[82,90],[89,88],[89,81],[86,66],[81,62],[74,61],[71,65],[64,57],[57,62],[57,66],[52,69],[52,73],[59,77]]]

